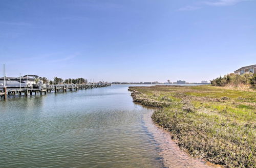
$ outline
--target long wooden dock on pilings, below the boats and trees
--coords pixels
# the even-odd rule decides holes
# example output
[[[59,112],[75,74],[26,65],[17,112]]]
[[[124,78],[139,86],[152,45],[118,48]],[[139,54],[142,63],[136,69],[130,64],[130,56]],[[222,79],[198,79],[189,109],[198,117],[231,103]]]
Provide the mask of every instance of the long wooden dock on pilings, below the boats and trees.
[[[67,91],[78,91],[83,89],[93,89],[93,88],[102,88],[102,87],[109,87],[111,86],[110,83],[89,83],[83,85],[48,85],[46,87],[39,87],[37,89],[32,87],[23,87],[23,88],[15,88],[14,86],[0,86],[0,97],[4,100],[7,99],[8,95],[25,95],[26,97],[30,95],[40,94],[42,95],[47,94],[48,92],[67,92]]]

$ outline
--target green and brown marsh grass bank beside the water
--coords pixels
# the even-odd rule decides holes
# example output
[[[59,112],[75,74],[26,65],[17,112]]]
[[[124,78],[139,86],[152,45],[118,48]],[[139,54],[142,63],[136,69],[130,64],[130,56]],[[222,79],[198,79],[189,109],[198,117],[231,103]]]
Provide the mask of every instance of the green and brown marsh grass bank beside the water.
[[[256,92],[211,86],[130,87],[135,102],[189,154],[227,167],[255,167]]]

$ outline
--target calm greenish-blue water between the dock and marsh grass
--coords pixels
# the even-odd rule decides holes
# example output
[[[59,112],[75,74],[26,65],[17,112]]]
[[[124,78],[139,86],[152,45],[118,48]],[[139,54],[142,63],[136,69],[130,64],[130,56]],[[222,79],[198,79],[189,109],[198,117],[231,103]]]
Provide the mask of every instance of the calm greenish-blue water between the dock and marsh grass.
[[[153,110],[133,103],[127,87],[1,100],[0,166],[190,165],[191,158],[164,142],[166,134],[150,119]]]

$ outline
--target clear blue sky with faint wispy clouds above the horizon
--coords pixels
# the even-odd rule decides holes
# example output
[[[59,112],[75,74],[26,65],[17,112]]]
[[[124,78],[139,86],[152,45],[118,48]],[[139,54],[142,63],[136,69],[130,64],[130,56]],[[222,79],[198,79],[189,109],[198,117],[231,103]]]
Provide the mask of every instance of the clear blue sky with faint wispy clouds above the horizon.
[[[256,1],[0,1],[0,67],[94,81],[210,80],[256,64]]]

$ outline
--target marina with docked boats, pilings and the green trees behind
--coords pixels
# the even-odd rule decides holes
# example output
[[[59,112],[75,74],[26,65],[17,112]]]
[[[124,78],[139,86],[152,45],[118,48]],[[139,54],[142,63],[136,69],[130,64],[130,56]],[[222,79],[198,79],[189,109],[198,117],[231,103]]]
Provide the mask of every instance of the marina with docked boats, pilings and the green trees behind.
[[[72,82],[73,81],[73,82]],[[48,92],[67,92],[78,91],[83,89],[93,89],[109,87],[111,83],[108,82],[87,82],[87,79],[66,79],[54,78],[54,81],[49,81],[47,78],[39,77],[38,75],[24,75],[19,77],[7,77],[4,64],[4,77],[0,78],[0,97],[6,100],[9,95],[19,94],[25,95],[42,95]],[[33,94],[34,93],[34,94]]]

